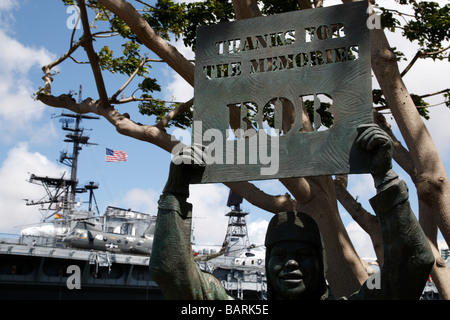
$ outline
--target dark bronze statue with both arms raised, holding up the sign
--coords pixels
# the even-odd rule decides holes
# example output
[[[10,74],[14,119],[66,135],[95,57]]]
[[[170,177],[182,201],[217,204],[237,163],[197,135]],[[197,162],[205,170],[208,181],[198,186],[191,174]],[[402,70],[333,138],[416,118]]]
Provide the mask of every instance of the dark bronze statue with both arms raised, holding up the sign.
[[[406,184],[392,170],[392,141],[378,126],[363,125],[358,127],[356,144],[371,155],[377,195],[370,202],[380,222],[385,258],[379,288],[363,284],[358,292],[343,298],[418,299],[434,257],[411,212]],[[186,198],[189,184],[201,177],[202,163],[202,149],[196,146],[174,158],[159,201],[150,272],[167,299],[232,299],[214,276],[200,270],[192,256],[192,205]],[[269,299],[327,298],[326,253],[310,216],[300,212],[274,215],[265,245]]]

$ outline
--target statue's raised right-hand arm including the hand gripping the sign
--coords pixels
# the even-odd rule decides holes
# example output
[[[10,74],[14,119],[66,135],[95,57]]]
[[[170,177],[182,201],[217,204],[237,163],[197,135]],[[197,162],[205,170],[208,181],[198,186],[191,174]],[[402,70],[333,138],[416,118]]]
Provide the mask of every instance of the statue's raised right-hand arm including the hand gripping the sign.
[[[370,203],[381,228],[384,261],[380,282],[369,279],[373,281],[371,289],[365,283],[357,298],[418,299],[434,256],[410,208],[406,183],[392,170],[392,141],[378,127],[369,126],[360,131],[358,143],[373,153],[371,173],[377,195]]]

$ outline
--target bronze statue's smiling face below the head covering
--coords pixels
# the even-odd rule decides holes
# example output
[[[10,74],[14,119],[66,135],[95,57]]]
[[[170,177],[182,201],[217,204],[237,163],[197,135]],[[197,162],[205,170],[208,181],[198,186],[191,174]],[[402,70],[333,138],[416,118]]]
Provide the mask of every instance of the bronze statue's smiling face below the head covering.
[[[285,241],[270,252],[267,273],[276,296],[281,299],[308,299],[321,279],[320,260],[309,244]]]

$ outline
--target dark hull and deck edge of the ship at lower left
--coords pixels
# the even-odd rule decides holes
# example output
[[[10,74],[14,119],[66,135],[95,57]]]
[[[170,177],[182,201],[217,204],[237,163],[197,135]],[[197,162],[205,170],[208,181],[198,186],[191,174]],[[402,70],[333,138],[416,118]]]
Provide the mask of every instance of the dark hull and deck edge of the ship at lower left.
[[[0,299],[163,299],[150,276],[149,259],[0,243]]]

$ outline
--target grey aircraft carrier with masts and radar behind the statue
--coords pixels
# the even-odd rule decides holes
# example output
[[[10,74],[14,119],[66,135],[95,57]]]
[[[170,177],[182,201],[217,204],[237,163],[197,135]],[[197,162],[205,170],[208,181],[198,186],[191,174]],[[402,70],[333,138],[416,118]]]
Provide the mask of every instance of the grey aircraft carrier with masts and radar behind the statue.
[[[98,117],[60,118],[68,132],[64,141],[73,144],[72,154],[62,152],[60,162],[71,168],[71,176],[30,175],[29,182],[42,186],[47,195],[27,205],[39,206],[43,218],[20,235],[0,235],[0,299],[164,299],[148,268],[156,215],[112,206],[99,214],[94,192],[98,186],[77,182],[79,151],[95,145],[83,135],[80,123]],[[89,209],[84,211],[75,202],[81,193],[89,195]],[[232,206],[226,252],[202,250],[195,253],[196,260],[235,298],[264,299],[264,255],[244,241],[246,213],[236,208],[238,203]]]

